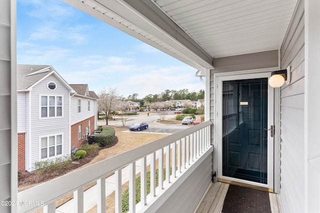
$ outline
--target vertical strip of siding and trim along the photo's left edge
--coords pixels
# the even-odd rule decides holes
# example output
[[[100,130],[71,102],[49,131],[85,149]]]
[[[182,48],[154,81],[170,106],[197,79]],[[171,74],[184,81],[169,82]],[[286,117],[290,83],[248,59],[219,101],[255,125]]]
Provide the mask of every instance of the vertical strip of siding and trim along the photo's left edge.
[[[14,149],[17,144],[16,136],[16,121],[10,120],[11,110],[15,110],[16,106],[11,107],[10,99],[15,99],[15,91],[11,92],[11,88],[16,87],[16,82],[14,78],[16,76],[16,71],[14,70],[15,66],[15,49],[10,50],[10,45],[15,43],[15,10],[14,4],[10,4],[10,0],[1,0],[0,1],[0,138],[1,138],[1,155],[0,155],[0,201],[10,201],[16,200],[15,190],[17,187],[14,187],[16,183],[16,176],[11,177],[11,170],[17,170],[17,166],[14,163],[15,160],[11,160],[11,151],[14,153]],[[10,17],[10,13],[11,17]],[[10,30],[12,29],[12,33]],[[13,40],[11,40],[13,39]],[[11,59],[11,57],[13,57]],[[11,70],[13,69],[13,71]],[[15,113],[15,111],[13,111]],[[13,114],[12,113],[12,114]],[[15,118],[15,116],[14,116]],[[15,137],[13,135],[15,134]],[[11,148],[12,145],[12,148]],[[17,154],[13,158],[17,158]],[[12,172],[13,174],[13,172]],[[13,183],[12,183],[13,181]],[[12,208],[14,210],[14,207]],[[10,207],[0,205],[1,213],[9,213]]]

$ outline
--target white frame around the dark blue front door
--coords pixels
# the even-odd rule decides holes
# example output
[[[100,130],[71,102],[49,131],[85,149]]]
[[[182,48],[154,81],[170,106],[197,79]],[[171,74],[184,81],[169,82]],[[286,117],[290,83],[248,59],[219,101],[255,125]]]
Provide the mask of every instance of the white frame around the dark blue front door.
[[[257,188],[260,190],[268,191],[268,192],[275,192],[277,191],[277,185],[279,181],[279,174],[278,170],[274,169],[274,165],[278,165],[279,162],[279,155],[274,153],[274,151],[278,151],[274,147],[274,144],[279,144],[277,138],[278,134],[274,134],[274,137],[270,137],[270,131],[268,131],[268,174],[267,174],[267,184],[260,184],[246,180],[239,180],[235,178],[229,178],[222,176],[222,81],[227,80],[240,80],[240,79],[250,79],[250,78],[269,78],[270,72],[278,70],[277,67],[266,68],[266,69],[255,69],[255,70],[244,70],[244,71],[232,71],[232,72],[223,72],[223,73],[214,73],[213,74],[213,86],[214,86],[214,121],[213,121],[213,129],[214,129],[214,171],[217,174],[217,180],[242,186],[249,186],[253,188]],[[274,112],[278,112],[276,110],[279,106],[275,106],[277,104],[276,101],[277,97],[279,97],[279,89],[274,89],[268,85],[268,128],[270,125],[274,125],[275,133],[279,132],[279,125],[275,124],[276,115]],[[272,106],[270,106],[270,104]],[[273,115],[273,116],[269,116]],[[274,120],[275,119],[275,120]],[[270,143],[272,141],[273,143]],[[275,149],[274,149],[275,148]],[[274,182],[276,181],[276,183]]]

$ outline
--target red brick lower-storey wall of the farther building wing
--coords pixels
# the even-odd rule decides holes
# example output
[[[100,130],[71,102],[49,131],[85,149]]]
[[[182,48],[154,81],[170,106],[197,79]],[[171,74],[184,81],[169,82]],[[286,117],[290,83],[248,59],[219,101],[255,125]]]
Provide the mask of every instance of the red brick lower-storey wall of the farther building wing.
[[[90,120],[90,126],[91,126],[90,128],[91,132],[89,133],[90,135],[96,129],[96,127],[94,126],[94,116],[71,125],[71,148],[74,146],[76,147],[81,146],[82,138],[78,139],[78,133],[79,133],[78,126],[81,125],[81,135],[83,136],[85,133],[85,128],[88,128],[89,120]]]

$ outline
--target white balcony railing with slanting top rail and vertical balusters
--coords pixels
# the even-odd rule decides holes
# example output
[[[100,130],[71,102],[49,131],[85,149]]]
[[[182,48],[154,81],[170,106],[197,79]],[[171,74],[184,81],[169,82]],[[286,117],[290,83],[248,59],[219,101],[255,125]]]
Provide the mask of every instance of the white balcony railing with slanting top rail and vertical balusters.
[[[115,212],[121,211],[121,171],[129,167],[129,212],[144,211],[147,206],[163,194],[181,174],[185,173],[202,155],[210,149],[210,121],[195,125],[178,133],[145,144],[128,152],[100,161],[88,167],[53,179],[41,185],[18,193],[18,201],[32,201],[44,204],[43,210],[55,213],[55,202],[73,193],[73,212],[84,212],[83,188],[97,182],[97,212],[105,212],[105,176],[115,175]],[[210,150],[209,150],[210,149]],[[169,154],[168,154],[169,153]],[[156,158],[158,160],[158,186],[155,182]],[[165,163],[164,163],[165,161]],[[135,164],[140,162],[141,201],[135,204]],[[150,166],[150,194],[146,195],[146,168]],[[165,168],[165,169],[164,169]],[[170,174],[170,168],[172,168]],[[176,169],[173,169],[176,168]],[[165,178],[163,178],[165,170]],[[165,179],[165,180],[164,180]],[[38,206],[18,206],[18,212],[30,212]],[[144,210],[143,210],[144,209]]]

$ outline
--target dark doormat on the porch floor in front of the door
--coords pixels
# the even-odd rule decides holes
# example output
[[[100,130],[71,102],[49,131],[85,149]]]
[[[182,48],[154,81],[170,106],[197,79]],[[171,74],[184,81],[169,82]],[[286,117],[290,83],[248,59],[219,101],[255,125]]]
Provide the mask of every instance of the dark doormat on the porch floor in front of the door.
[[[230,185],[222,213],[271,213],[268,192]]]

